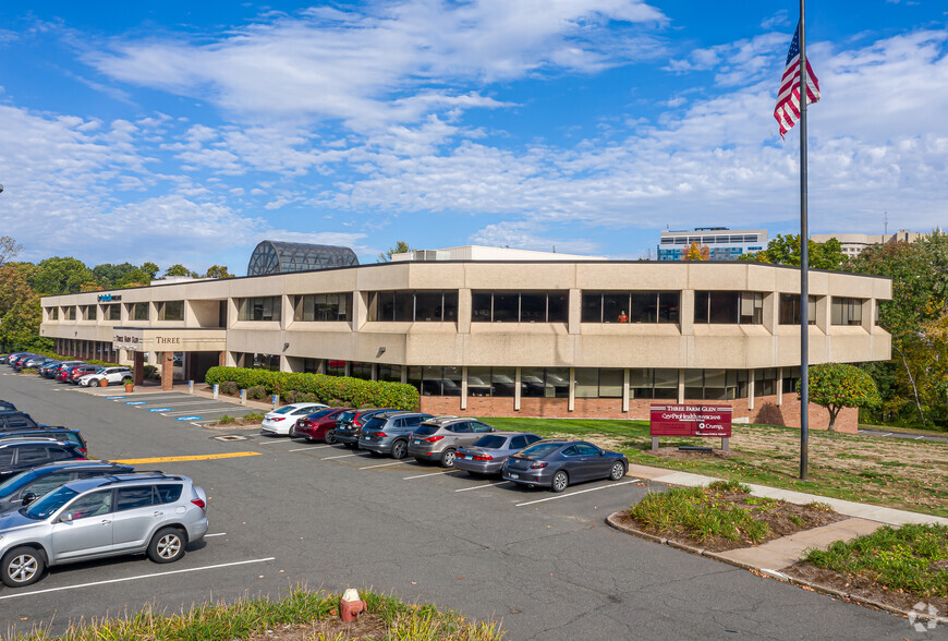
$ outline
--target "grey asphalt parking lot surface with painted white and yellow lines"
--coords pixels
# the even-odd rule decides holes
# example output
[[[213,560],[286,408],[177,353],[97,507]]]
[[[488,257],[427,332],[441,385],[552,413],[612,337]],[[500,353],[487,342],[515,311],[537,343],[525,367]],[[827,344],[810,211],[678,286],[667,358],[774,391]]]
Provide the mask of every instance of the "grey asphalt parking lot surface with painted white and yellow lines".
[[[109,559],[0,589],[0,608],[19,629],[53,621],[59,631],[69,619],[149,602],[177,610],[306,583],[372,586],[502,618],[511,639],[901,639],[910,630],[889,615],[616,532],[605,517],[649,491],[631,476],[562,494],[521,488],[341,446],[208,430],[200,425],[250,409],[179,392],[126,397],[0,376],[0,398],[82,430],[92,456],[186,474],[209,497],[209,534],[177,564]]]

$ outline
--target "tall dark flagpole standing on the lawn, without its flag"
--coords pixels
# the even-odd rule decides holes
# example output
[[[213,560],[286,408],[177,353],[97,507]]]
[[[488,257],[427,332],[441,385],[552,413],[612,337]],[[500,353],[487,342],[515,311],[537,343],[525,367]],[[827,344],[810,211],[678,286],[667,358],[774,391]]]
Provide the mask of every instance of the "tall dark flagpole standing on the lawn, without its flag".
[[[806,221],[806,27],[800,0],[800,479],[810,463],[810,233]]]

